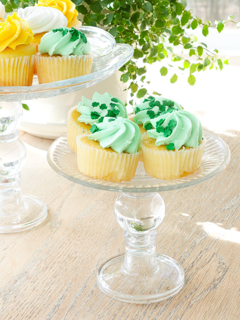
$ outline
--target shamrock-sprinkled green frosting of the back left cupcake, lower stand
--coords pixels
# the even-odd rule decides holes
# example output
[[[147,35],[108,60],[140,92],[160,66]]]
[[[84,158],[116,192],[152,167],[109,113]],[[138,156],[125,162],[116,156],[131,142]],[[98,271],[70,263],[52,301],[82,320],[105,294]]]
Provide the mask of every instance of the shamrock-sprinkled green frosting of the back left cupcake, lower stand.
[[[104,94],[95,92],[92,100],[82,97],[82,101],[78,102],[77,111],[81,113],[77,121],[91,125],[102,122],[105,116],[127,118],[124,103],[108,92]]]

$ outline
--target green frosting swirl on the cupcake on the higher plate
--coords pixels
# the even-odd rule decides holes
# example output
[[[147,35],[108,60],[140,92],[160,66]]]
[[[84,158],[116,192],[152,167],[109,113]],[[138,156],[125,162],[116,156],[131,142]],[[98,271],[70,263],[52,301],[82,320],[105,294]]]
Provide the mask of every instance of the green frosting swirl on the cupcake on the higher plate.
[[[40,53],[48,53],[50,56],[89,54],[91,46],[84,33],[75,28],[62,27],[45,33],[41,38],[38,48]]]

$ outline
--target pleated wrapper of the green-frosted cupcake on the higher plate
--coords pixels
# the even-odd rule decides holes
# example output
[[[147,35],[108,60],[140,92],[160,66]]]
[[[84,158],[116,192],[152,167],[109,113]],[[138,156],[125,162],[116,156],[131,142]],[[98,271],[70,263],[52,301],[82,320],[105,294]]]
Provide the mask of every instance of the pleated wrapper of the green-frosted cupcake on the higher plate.
[[[36,70],[39,83],[75,78],[91,73],[92,54],[82,56],[44,57],[36,55]]]

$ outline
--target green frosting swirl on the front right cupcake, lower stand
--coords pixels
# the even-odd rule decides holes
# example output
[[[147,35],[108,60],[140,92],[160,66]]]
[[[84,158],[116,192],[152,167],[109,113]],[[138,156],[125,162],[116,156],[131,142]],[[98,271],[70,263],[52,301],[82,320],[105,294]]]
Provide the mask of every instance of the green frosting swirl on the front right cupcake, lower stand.
[[[167,145],[168,150],[197,147],[202,141],[200,121],[188,111],[173,110],[150,120],[154,129],[148,130],[150,138],[156,139],[156,146]]]

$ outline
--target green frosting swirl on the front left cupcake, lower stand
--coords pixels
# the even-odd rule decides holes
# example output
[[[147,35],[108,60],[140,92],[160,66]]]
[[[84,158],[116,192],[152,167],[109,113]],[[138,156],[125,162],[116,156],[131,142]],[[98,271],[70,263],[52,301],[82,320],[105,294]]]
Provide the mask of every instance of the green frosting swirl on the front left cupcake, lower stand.
[[[99,141],[102,148],[112,148],[118,153],[136,153],[141,133],[137,124],[123,117],[105,117],[103,122],[91,127],[88,139]]]

